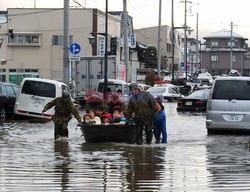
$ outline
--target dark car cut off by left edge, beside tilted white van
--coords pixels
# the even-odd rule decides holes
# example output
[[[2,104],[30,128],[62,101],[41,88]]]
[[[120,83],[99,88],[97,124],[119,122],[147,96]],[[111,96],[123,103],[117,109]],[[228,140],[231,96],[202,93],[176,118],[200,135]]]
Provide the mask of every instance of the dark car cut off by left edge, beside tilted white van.
[[[19,86],[12,83],[0,82],[0,118],[14,113],[16,95],[19,91]]]

